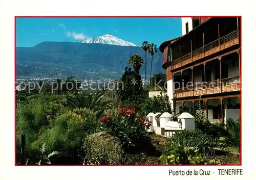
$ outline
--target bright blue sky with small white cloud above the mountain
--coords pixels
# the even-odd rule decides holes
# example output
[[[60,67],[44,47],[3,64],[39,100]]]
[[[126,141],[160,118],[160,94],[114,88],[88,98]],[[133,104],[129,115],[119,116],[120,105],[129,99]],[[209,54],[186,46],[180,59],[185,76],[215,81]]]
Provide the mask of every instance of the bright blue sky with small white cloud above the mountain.
[[[141,45],[159,46],[182,35],[181,18],[16,18],[16,46],[30,47],[44,41],[79,42],[103,34]]]

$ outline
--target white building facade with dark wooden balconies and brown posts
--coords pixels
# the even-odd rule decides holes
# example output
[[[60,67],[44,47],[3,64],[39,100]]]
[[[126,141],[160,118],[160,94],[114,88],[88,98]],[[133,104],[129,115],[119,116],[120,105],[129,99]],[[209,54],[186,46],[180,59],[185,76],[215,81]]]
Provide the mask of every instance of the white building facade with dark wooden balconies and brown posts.
[[[160,45],[176,113],[194,106],[211,122],[240,117],[240,23],[240,17],[182,18],[182,36]]]

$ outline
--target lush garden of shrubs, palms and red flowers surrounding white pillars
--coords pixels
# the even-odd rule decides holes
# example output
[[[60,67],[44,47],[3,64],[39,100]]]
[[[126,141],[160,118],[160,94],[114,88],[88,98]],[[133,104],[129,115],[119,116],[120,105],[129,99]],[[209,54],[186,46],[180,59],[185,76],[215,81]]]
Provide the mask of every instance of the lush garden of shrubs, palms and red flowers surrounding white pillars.
[[[189,107],[183,111],[195,117],[196,131],[149,133],[148,113],[174,111],[167,95],[148,98],[153,86],[140,83],[142,58],[134,55],[129,63],[133,71],[115,82],[123,88],[88,92],[59,86],[52,92],[48,84],[39,93],[16,91],[16,164],[240,164],[239,119],[213,124]],[[72,77],[61,81],[77,83]]]

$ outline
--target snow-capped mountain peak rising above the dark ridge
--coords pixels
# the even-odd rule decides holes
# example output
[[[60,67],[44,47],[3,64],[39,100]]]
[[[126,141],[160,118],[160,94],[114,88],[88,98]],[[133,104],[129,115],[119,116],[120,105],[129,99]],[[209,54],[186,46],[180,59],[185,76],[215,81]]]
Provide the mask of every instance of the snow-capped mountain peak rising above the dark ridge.
[[[132,42],[124,41],[110,34],[104,34],[102,36],[97,36],[93,39],[82,40],[81,43],[99,43],[99,44],[111,44],[111,45],[121,45],[121,46],[138,46]]]

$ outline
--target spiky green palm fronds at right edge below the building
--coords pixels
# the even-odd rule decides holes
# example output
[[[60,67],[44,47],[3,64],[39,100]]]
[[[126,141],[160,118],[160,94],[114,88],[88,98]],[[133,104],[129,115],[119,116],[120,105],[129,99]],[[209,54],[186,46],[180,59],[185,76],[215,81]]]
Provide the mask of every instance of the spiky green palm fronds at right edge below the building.
[[[227,143],[240,151],[240,119],[227,119]]]

